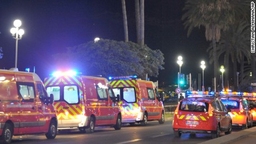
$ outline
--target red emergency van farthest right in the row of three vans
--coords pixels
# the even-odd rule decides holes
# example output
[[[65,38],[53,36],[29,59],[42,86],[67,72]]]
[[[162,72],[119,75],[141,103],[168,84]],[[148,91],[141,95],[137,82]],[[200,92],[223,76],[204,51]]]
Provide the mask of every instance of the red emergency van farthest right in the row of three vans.
[[[122,122],[141,123],[165,121],[163,97],[160,98],[154,82],[137,80],[136,76],[110,77],[115,95],[120,95]]]

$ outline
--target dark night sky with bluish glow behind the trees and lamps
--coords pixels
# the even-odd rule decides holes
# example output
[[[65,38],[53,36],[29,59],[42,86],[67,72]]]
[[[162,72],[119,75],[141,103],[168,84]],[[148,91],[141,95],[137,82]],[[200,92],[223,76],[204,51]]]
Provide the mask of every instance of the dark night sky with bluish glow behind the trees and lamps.
[[[181,16],[185,1],[145,1],[145,44],[160,49],[165,57],[165,69],[157,78],[160,83],[174,84],[183,56],[181,73],[198,80],[200,62],[204,59],[205,86],[211,85],[213,64],[209,64],[206,49],[209,42],[204,28],[195,28],[189,37]],[[134,0],[126,0],[129,41],[136,43]],[[15,39],[9,32],[13,21],[20,19],[25,33],[18,41],[18,69],[33,69],[43,79],[56,71],[52,54],[65,52],[66,47],[77,46],[95,37],[124,41],[121,0],[0,0],[0,47],[3,58],[0,68],[9,69],[15,64]],[[223,63],[220,63],[223,64]]]

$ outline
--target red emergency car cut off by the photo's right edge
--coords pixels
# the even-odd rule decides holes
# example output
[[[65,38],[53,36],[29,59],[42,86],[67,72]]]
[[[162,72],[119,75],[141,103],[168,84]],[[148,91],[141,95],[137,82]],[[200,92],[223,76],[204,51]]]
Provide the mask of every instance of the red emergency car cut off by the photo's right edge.
[[[243,93],[250,108],[252,108],[253,122],[256,123],[256,93]]]

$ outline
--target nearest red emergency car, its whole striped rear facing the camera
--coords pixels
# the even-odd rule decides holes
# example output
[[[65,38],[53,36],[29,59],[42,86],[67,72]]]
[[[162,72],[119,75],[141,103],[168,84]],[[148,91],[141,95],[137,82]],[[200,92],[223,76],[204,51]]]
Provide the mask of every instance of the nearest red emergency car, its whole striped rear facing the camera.
[[[232,132],[232,118],[223,103],[214,98],[214,92],[200,95],[187,91],[186,98],[178,103],[174,113],[173,131],[177,137],[181,133],[210,133],[212,138],[220,132]]]

